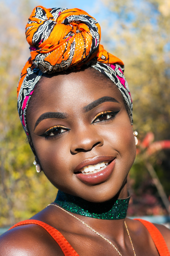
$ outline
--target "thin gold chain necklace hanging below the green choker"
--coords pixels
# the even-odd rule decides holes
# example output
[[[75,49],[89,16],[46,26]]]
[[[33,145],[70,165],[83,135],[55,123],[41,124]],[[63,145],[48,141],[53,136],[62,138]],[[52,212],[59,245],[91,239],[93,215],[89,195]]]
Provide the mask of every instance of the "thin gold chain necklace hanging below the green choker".
[[[115,250],[118,252],[118,254],[119,254],[120,256],[122,256],[122,254],[119,252],[119,250],[116,248],[116,246],[115,246],[110,240],[108,240],[106,237],[102,236],[102,235],[101,235],[99,232],[97,232],[95,229],[91,228],[87,223],[85,223],[84,221],[82,221],[81,219],[79,219],[78,217],[76,217],[75,215],[73,215],[72,213],[66,211],[65,209],[63,209],[63,208],[60,207],[59,205],[50,203],[50,204],[47,205],[47,207],[50,206],[50,205],[53,205],[53,206],[56,206],[56,207],[60,208],[62,211],[68,213],[69,215],[71,215],[72,217],[74,217],[75,219],[77,219],[78,221],[80,221],[81,223],[83,223],[86,227],[88,227],[90,230],[92,230],[93,232],[95,232],[99,237],[103,238],[105,241],[107,241],[109,244],[111,244],[111,245],[115,248]],[[133,252],[134,252],[134,256],[136,256],[135,249],[134,249],[134,246],[133,246],[133,243],[132,243],[132,239],[131,239],[131,236],[130,236],[130,233],[129,233],[129,230],[128,230],[128,226],[127,226],[127,224],[126,224],[125,221],[124,221],[124,225],[125,225],[126,231],[127,231],[127,233],[128,233],[128,236],[129,236],[129,240],[130,240],[131,245],[132,245],[132,249],[133,249]]]

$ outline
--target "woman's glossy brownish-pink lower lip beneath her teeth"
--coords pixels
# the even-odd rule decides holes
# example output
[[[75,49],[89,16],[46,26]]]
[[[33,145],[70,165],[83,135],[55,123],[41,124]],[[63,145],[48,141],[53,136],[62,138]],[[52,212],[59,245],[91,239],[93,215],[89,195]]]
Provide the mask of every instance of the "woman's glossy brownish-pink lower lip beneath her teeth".
[[[115,168],[115,159],[112,160],[112,162],[109,163],[109,165],[107,165],[107,167],[100,172],[93,173],[93,174],[78,173],[75,175],[78,177],[79,180],[81,180],[84,183],[99,184],[101,182],[106,181],[109,178],[114,168]]]

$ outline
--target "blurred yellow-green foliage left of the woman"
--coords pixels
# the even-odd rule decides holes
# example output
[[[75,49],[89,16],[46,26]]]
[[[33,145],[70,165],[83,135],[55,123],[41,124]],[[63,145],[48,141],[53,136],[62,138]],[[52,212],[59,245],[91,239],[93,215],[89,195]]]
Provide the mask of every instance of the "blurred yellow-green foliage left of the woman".
[[[33,8],[26,0],[11,4],[9,9],[2,3],[0,9],[0,226],[30,218],[56,194],[45,175],[35,171],[17,113],[17,83],[23,61],[29,57],[24,27]]]

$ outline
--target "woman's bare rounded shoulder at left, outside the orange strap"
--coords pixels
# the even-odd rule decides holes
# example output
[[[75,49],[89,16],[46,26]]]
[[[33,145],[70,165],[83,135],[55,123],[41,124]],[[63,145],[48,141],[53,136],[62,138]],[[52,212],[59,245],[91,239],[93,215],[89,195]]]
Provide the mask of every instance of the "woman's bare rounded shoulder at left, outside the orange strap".
[[[35,224],[15,227],[0,236],[0,256],[64,255],[49,233]]]

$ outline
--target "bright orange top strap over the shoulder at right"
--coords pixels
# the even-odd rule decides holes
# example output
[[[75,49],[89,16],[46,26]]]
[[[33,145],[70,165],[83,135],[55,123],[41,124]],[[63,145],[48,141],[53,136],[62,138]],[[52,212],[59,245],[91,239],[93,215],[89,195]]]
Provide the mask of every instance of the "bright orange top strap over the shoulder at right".
[[[144,219],[136,220],[140,221],[148,229],[150,236],[152,237],[153,242],[158,250],[159,255],[170,256],[170,252],[160,231],[152,223],[145,221]]]

